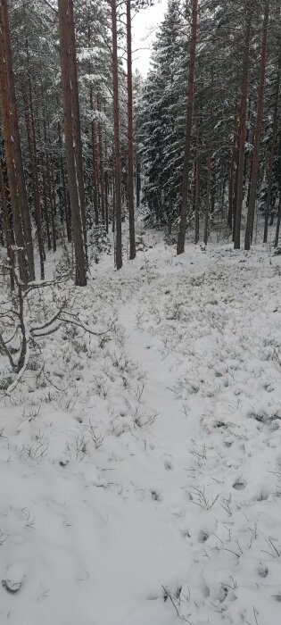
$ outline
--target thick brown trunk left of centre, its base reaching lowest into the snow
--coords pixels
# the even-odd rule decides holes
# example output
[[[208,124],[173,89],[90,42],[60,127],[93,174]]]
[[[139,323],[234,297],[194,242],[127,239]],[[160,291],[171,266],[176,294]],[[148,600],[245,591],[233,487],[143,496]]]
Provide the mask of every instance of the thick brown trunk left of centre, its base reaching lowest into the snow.
[[[79,154],[75,151],[75,141],[77,140],[77,130],[79,128],[79,121],[74,123],[74,116],[79,114],[77,103],[74,104],[72,91],[73,88],[77,90],[73,85],[73,64],[75,63],[75,49],[73,48],[74,34],[70,34],[70,4],[72,0],[59,0],[58,12],[59,12],[59,29],[60,29],[60,52],[61,52],[61,67],[62,67],[62,101],[63,101],[63,115],[64,115],[64,134],[65,134],[65,148],[67,159],[67,170],[70,190],[70,209],[71,209],[71,229],[72,240],[75,250],[75,284],[79,287],[84,287],[87,284],[87,262],[86,262],[86,241],[84,238],[84,225],[83,225],[83,193],[81,196],[81,175],[78,172]],[[70,54],[71,61],[70,63]],[[70,65],[72,66],[70,68]],[[72,88],[73,87],[73,88]],[[80,182],[79,182],[80,180]]]

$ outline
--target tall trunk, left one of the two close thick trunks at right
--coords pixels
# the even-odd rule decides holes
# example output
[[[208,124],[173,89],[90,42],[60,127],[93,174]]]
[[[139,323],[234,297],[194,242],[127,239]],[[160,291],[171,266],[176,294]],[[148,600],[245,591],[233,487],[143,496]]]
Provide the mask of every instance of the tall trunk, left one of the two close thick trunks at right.
[[[241,217],[244,196],[244,154],[245,140],[247,132],[247,96],[248,96],[248,76],[249,76],[249,55],[250,39],[252,27],[252,4],[247,6],[244,30],[244,54],[242,64],[242,88],[241,88],[241,108],[240,108],[240,131],[239,131],[239,154],[237,171],[237,198],[236,198],[236,229],[234,247],[240,249]]]

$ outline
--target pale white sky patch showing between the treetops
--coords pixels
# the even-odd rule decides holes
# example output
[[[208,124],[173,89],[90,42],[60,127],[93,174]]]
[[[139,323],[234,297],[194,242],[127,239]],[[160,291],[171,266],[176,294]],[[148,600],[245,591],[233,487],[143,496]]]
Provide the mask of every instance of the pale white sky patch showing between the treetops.
[[[133,19],[134,69],[146,76],[149,69],[151,46],[157,26],[161,23],[168,0],[160,0],[154,6],[137,13]]]

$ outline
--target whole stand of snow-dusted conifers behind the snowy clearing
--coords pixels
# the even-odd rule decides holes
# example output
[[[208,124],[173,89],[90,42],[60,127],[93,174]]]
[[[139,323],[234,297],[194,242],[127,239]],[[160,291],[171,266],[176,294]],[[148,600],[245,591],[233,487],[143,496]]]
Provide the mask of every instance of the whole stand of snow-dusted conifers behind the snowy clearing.
[[[178,254],[211,229],[278,246],[278,0],[169,0],[144,79],[132,24],[151,4],[0,0],[0,234],[23,283],[68,245],[86,285],[95,229],[117,269],[133,260],[141,196]]]

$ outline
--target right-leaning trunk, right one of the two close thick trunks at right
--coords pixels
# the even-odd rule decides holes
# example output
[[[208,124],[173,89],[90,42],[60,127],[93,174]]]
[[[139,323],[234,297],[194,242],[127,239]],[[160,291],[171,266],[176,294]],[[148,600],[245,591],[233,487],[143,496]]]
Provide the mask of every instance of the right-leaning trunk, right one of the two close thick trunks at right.
[[[254,137],[254,148],[252,154],[252,170],[250,177],[250,195],[247,212],[247,221],[244,238],[244,249],[249,250],[252,243],[252,225],[254,221],[255,203],[257,195],[259,157],[260,157],[260,134],[263,114],[264,88],[267,63],[267,47],[268,47],[268,25],[269,25],[269,0],[265,0],[265,11],[262,29],[262,44],[260,58],[260,87],[257,106],[257,118]]]

